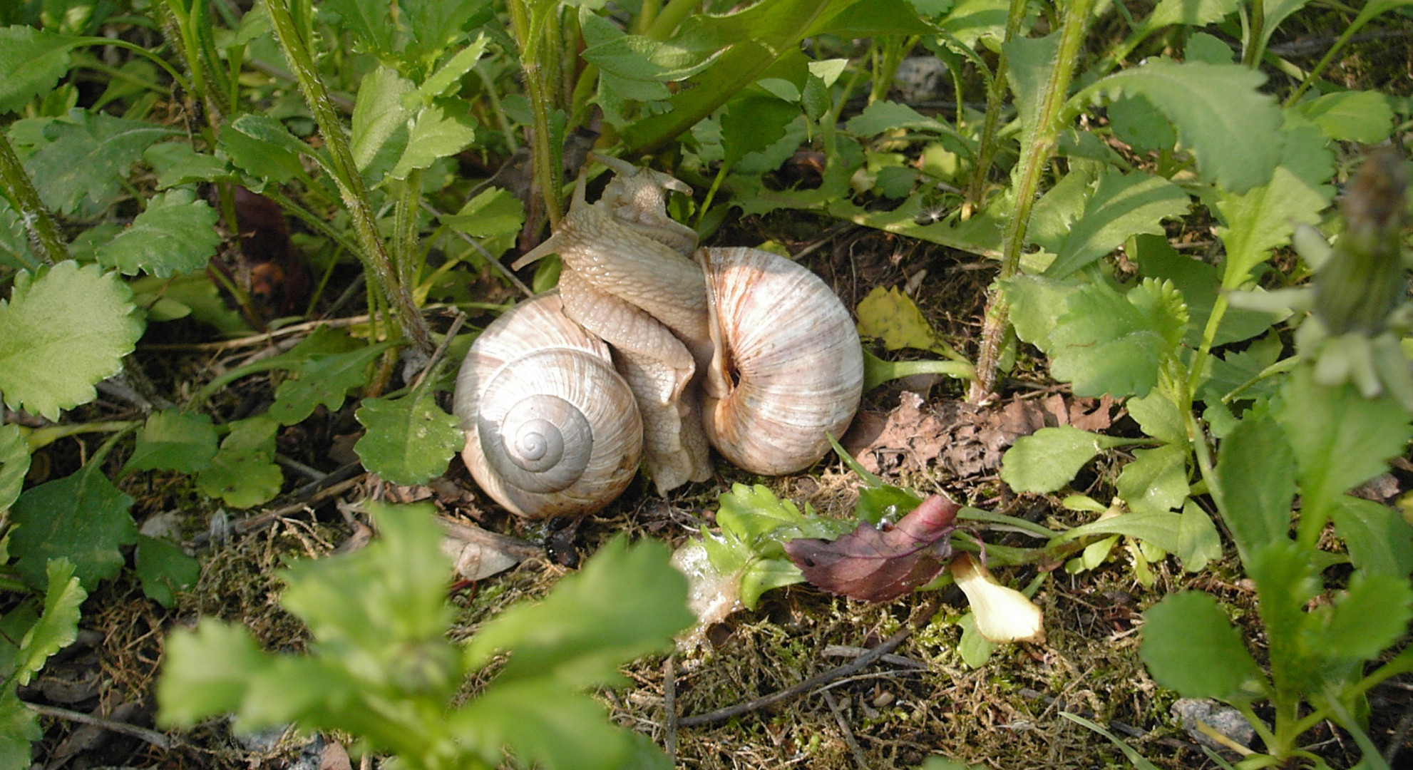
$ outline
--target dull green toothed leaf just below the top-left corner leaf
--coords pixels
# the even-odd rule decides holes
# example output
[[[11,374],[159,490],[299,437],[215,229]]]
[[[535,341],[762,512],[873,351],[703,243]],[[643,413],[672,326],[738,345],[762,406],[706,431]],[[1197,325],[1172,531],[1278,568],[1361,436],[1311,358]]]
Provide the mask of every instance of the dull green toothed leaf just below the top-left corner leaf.
[[[73,109],[45,127],[52,141],[24,168],[34,177],[45,206],[73,213],[86,202],[96,211],[117,199],[122,179],[154,141],[175,133],[143,120]]]

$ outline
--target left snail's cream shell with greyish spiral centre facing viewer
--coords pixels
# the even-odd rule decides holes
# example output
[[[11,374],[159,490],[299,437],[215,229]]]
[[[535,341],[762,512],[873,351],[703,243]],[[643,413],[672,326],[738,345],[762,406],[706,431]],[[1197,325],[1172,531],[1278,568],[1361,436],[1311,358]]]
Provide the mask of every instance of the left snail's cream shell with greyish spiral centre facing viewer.
[[[608,345],[558,294],[516,305],[476,338],[456,377],[462,459],[497,503],[531,519],[602,509],[637,475],[643,422]]]

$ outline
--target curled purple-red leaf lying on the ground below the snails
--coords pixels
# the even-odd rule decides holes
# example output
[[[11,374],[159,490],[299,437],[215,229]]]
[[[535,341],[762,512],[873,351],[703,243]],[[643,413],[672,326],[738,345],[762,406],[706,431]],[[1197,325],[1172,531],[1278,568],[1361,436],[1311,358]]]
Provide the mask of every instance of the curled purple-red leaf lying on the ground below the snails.
[[[892,527],[879,530],[863,521],[832,543],[791,540],[784,544],[786,554],[807,581],[829,593],[890,602],[927,585],[947,565],[958,509],[933,494]]]

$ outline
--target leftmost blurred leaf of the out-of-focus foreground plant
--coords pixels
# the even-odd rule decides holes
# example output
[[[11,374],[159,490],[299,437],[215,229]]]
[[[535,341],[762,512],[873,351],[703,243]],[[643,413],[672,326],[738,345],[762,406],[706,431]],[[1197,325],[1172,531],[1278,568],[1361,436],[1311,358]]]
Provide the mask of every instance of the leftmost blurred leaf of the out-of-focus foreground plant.
[[[273,668],[250,632],[211,617],[194,632],[172,632],[164,653],[157,721],[168,728],[189,728],[206,716],[239,711],[252,682]]]

